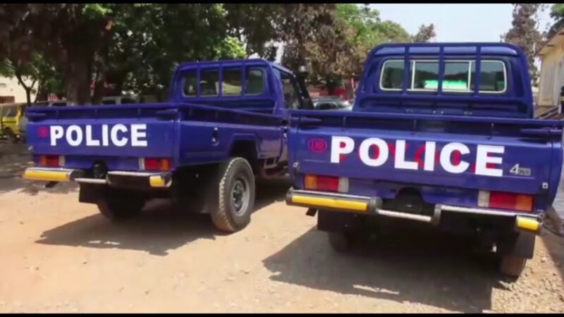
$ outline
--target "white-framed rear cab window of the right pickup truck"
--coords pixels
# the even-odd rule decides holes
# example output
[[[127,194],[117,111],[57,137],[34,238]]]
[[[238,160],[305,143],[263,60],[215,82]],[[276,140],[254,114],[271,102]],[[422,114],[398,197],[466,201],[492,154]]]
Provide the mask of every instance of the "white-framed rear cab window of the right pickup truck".
[[[435,92],[439,84],[439,61],[414,60],[407,72],[408,92]],[[405,63],[400,59],[384,61],[379,80],[383,92],[401,91]],[[507,90],[505,63],[498,60],[482,60],[480,65],[479,93],[503,94]],[[470,93],[474,91],[476,62],[472,60],[446,60],[443,71],[443,92]]]

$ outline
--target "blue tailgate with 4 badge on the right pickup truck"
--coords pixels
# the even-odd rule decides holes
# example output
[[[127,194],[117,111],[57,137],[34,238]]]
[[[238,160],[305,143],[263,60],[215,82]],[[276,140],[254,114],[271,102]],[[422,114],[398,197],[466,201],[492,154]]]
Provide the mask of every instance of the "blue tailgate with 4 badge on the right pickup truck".
[[[311,111],[295,111],[292,121],[298,188],[314,174],[350,178],[349,192],[365,196],[393,198],[417,187],[441,204],[452,202],[451,192],[458,204],[475,206],[478,189],[556,194],[558,121]]]

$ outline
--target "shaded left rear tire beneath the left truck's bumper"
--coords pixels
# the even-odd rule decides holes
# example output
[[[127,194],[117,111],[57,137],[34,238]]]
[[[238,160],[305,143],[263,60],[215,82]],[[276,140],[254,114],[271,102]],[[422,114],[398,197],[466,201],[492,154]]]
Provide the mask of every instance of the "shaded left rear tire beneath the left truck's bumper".
[[[107,190],[96,204],[102,216],[118,221],[140,214],[145,207],[145,199],[128,192]]]

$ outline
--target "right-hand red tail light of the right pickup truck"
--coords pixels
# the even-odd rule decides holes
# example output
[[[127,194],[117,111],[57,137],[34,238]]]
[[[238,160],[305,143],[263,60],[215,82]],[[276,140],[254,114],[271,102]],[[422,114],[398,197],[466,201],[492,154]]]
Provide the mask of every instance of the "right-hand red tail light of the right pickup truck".
[[[532,211],[534,198],[529,194],[515,194],[511,192],[487,192],[481,190],[478,206],[494,209],[510,209],[515,211]]]

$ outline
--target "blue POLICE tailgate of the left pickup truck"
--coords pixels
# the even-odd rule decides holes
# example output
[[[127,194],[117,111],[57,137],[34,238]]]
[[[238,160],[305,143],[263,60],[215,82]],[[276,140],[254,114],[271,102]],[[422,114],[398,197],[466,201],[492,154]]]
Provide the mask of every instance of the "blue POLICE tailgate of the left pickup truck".
[[[173,104],[32,109],[27,143],[35,155],[66,156],[70,168],[102,159],[109,168],[137,169],[140,157],[173,158],[177,125],[159,118],[170,109]],[[118,164],[111,158],[130,161],[111,166]]]

